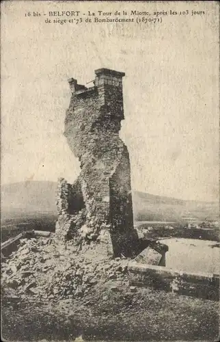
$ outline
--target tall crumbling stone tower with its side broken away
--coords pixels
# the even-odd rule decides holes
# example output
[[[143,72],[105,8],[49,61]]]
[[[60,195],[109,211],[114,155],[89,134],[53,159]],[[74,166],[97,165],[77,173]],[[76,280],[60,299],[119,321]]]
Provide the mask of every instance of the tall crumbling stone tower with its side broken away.
[[[74,239],[80,231],[85,241],[98,241],[105,228],[114,256],[130,257],[138,237],[133,228],[129,155],[119,137],[125,74],[106,68],[95,74],[91,88],[68,80],[72,95],[64,135],[81,163],[81,173],[73,185],[59,180],[56,233]]]

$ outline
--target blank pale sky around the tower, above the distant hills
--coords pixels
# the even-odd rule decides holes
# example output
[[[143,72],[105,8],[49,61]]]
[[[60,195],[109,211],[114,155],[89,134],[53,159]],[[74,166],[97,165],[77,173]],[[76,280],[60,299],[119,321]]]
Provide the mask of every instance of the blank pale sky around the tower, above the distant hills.
[[[59,25],[25,12],[94,10],[94,3],[12,1],[2,8],[1,182],[73,182],[79,162],[63,135],[67,79],[85,84],[94,70],[124,77],[121,137],[133,189],[191,200],[219,196],[218,8],[187,4],[206,16],[163,23]],[[96,10],[107,3],[96,3]],[[161,10],[160,3],[111,3],[122,10]],[[163,10],[176,7],[163,3]],[[182,3],[184,8],[186,5]],[[135,7],[135,8],[134,8]],[[107,10],[109,10],[107,8]]]

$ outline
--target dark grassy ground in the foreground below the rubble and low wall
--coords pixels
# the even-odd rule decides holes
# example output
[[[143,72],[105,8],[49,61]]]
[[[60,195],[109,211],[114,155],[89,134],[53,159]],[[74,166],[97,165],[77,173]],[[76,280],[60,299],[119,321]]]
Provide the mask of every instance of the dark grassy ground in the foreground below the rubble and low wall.
[[[7,341],[217,341],[219,303],[175,293],[113,284],[94,287],[84,300],[38,304],[2,303],[2,337]],[[117,285],[117,284],[114,284]]]

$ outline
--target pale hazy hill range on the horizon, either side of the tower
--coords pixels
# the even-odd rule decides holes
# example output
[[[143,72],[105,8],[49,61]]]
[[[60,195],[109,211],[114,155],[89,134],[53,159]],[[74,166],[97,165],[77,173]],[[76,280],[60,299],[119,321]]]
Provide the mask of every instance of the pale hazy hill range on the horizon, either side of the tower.
[[[1,217],[52,213],[56,215],[57,183],[28,181],[1,186]],[[139,221],[218,220],[218,202],[198,202],[133,192],[133,211]]]

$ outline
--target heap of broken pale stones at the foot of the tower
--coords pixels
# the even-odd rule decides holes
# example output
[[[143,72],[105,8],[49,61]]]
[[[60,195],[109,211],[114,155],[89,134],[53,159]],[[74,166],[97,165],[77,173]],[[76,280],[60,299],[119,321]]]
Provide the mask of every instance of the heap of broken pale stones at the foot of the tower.
[[[85,298],[100,282],[126,281],[128,259],[102,253],[99,244],[60,244],[55,237],[22,239],[1,267],[3,291],[39,300]]]

